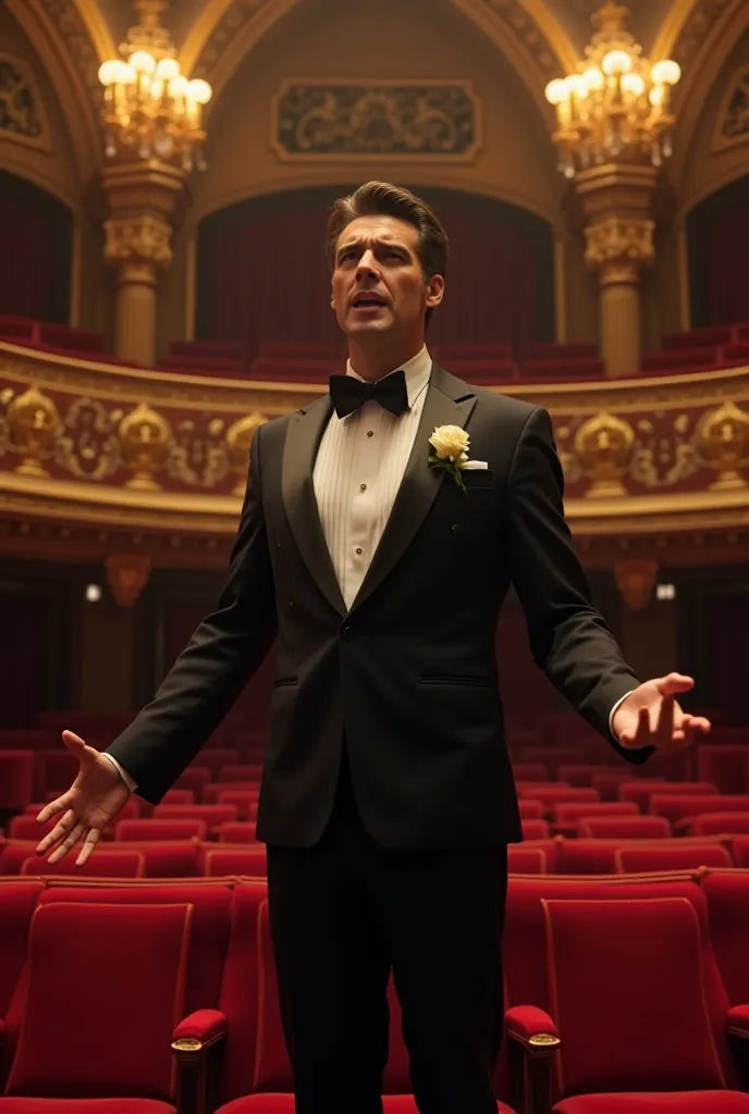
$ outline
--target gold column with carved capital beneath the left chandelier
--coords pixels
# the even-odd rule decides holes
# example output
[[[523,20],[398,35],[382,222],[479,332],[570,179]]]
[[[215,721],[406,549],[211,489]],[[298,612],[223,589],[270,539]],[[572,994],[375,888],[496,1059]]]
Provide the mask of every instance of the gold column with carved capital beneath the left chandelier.
[[[101,172],[109,206],[105,257],[116,267],[115,353],[153,367],[158,273],[172,262],[172,229],[185,202],[183,170],[154,162]]]

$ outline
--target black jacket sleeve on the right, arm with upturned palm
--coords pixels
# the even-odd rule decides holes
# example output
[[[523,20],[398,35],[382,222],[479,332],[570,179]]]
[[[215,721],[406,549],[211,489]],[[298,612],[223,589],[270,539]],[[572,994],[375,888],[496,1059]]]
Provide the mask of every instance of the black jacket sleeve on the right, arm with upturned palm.
[[[640,682],[591,603],[587,578],[564,518],[563,494],[552,421],[537,408],[518,439],[507,487],[512,578],[525,612],[533,657],[592,727],[628,761],[641,763],[653,747],[620,746],[609,723],[617,701]]]

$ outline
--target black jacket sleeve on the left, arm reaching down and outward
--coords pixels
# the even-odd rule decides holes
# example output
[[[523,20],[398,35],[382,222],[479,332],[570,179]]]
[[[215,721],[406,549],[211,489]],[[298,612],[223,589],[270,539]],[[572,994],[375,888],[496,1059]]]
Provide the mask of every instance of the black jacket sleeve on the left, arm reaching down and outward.
[[[275,592],[260,498],[260,432],[226,583],[158,692],[107,753],[158,803],[221,723],[276,634]]]

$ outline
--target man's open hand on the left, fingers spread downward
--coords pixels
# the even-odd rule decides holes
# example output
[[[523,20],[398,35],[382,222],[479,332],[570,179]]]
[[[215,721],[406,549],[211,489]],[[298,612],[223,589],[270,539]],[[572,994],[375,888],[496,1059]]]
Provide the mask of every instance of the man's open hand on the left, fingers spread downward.
[[[67,793],[45,805],[39,823],[60,815],[59,821],[37,847],[37,854],[46,854],[49,862],[59,862],[81,840],[84,846],[76,859],[82,867],[98,843],[101,832],[127,803],[130,791],[109,759],[105,758],[72,731],[62,732],[62,742],[80,762],[78,776]]]

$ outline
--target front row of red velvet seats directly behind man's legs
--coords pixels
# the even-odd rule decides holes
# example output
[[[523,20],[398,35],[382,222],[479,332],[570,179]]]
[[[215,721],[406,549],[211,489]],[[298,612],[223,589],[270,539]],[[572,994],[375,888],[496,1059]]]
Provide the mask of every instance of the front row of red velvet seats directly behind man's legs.
[[[510,878],[499,1110],[747,1114],[748,920],[749,871]],[[262,879],[7,880],[0,938],[0,1114],[293,1114]]]

